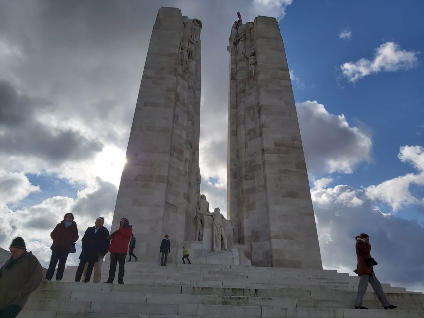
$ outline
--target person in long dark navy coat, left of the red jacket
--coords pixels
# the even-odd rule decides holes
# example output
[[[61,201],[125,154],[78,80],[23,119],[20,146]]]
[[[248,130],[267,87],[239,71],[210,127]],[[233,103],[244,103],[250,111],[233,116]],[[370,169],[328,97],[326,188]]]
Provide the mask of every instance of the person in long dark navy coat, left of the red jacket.
[[[80,254],[80,264],[78,265],[77,272],[75,273],[75,281],[79,282],[83,274],[85,263],[88,262],[87,272],[85,274],[84,282],[87,283],[91,279],[94,263],[99,260],[99,253],[103,255],[106,248],[106,241],[108,237],[107,231],[101,226],[102,220],[97,218],[95,226],[88,227],[81,239],[82,251]],[[104,256],[104,255],[103,255]]]

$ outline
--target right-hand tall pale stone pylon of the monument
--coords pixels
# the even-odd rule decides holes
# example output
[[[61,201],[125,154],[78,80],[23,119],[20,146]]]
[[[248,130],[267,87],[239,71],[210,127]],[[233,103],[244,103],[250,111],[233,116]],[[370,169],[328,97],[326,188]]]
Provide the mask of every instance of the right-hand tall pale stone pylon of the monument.
[[[238,18],[228,47],[227,195],[235,242],[249,247],[252,265],[322,268],[278,22]]]

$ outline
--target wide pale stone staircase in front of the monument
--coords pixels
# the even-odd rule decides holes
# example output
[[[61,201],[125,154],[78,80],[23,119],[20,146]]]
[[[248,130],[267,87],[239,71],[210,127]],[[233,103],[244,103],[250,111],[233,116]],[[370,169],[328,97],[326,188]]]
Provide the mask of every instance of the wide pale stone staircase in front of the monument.
[[[109,263],[103,264],[103,280]],[[424,296],[383,284],[398,309],[369,288],[354,309],[357,277],[335,270],[131,262],[125,284],[43,282],[19,318],[424,318]]]

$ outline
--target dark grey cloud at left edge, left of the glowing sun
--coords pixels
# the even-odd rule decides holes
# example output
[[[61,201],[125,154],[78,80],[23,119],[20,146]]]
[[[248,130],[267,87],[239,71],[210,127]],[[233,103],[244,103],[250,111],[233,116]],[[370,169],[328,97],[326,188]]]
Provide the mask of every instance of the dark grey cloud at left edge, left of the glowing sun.
[[[10,83],[0,81],[0,153],[34,156],[60,164],[88,159],[101,151],[103,145],[96,140],[38,121],[37,112],[48,108],[44,105],[42,100],[19,94]]]

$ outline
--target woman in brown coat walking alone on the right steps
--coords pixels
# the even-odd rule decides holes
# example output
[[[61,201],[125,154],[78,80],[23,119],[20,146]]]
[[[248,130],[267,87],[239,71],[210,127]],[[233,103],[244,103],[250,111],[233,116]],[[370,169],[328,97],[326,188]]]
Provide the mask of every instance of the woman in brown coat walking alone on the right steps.
[[[384,309],[397,308],[397,306],[391,305],[389,303],[386,294],[383,292],[383,288],[381,287],[380,281],[377,279],[377,277],[375,277],[374,268],[372,266],[368,266],[365,261],[366,259],[371,258],[371,245],[369,243],[369,235],[366,233],[361,233],[360,235],[355,237],[355,239],[358,265],[354,272],[359,275],[359,286],[355,300],[355,308],[368,309],[362,306],[362,300],[368,288],[368,283],[371,284],[375,294],[377,295]]]

